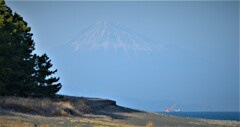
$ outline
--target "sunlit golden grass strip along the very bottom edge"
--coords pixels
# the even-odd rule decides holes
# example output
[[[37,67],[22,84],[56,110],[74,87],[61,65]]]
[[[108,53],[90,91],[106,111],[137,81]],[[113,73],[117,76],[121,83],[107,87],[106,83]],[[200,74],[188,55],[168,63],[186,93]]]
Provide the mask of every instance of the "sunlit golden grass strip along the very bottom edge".
[[[52,117],[53,118],[53,117]],[[61,119],[64,119],[62,117]],[[50,118],[51,119],[51,118]],[[63,122],[64,121],[64,122]],[[111,121],[106,119],[89,119],[89,118],[81,118],[77,119],[76,117],[72,117],[68,120],[62,121],[54,121],[53,124],[51,122],[42,121],[42,123],[34,123],[33,121],[27,122],[17,119],[9,119],[9,118],[0,118],[0,127],[154,127],[153,124],[148,124],[146,126],[137,126],[137,125],[130,125],[123,122]]]

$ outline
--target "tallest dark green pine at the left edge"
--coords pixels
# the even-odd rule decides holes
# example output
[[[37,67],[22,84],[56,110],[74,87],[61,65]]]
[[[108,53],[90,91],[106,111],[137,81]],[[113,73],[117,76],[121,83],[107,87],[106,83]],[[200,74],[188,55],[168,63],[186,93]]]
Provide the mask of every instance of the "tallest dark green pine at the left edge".
[[[33,87],[34,42],[23,18],[0,0],[0,94],[28,96]]]

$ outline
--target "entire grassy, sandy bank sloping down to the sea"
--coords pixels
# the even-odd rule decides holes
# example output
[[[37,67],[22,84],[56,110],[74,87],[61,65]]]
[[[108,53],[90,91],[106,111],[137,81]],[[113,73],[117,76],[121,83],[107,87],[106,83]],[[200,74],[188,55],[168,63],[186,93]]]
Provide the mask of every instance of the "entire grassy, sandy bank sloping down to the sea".
[[[181,118],[99,98],[0,97],[0,127],[239,127],[239,121]]]

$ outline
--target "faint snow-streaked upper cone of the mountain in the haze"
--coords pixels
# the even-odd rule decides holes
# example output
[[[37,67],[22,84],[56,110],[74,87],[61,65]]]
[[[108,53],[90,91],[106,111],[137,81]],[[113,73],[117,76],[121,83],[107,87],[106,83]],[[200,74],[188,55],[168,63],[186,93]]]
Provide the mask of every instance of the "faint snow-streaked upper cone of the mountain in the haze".
[[[164,45],[109,21],[99,21],[90,26],[72,39],[70,45],[74,51],[82,49],[121,50],[126,54],[164,49]]]

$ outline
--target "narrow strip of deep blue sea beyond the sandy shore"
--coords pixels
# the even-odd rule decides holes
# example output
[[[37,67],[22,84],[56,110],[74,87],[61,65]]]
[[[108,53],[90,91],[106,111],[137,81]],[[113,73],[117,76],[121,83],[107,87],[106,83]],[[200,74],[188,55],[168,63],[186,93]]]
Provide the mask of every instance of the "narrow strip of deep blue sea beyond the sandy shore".
[[[159,112],[159,113],[180,117],[240,121],[240,112],[169,112],[169,113]]]

